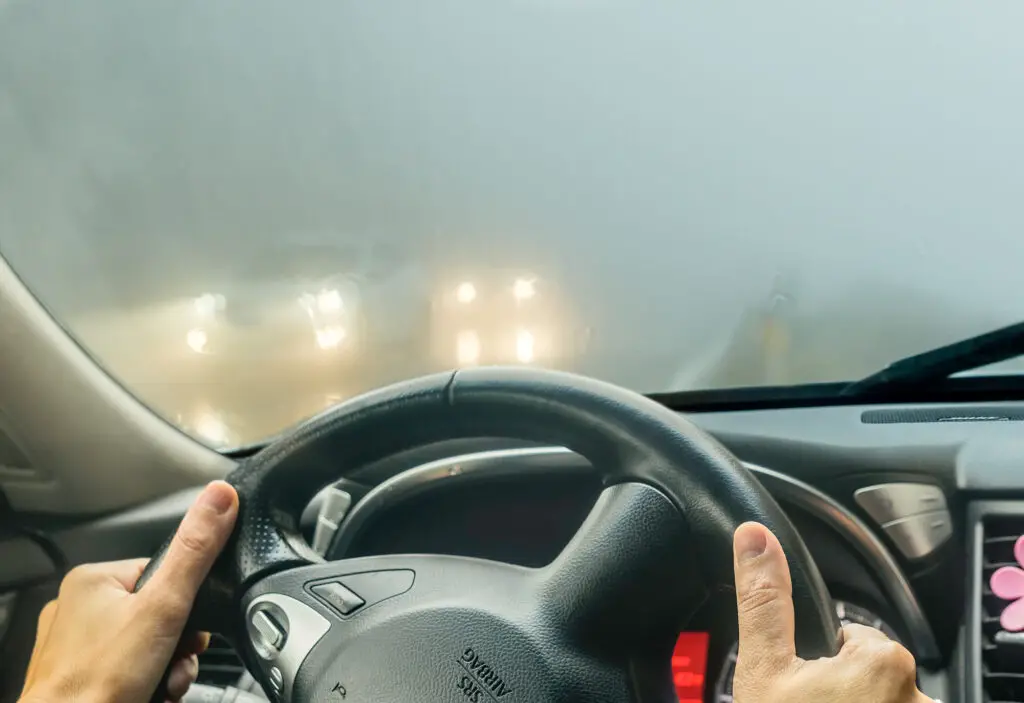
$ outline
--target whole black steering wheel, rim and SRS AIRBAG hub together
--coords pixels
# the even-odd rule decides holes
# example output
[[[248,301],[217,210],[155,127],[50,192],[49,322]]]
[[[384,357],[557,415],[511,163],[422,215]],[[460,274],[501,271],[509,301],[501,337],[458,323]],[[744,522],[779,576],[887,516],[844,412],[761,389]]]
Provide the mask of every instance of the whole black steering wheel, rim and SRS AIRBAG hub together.
[[[396,452],[467,437],[565,446],[600,474],[605,488],[552,564],[430,555],[324,563],[306,545],[299,516],[319,488]],[[798,653],[838,648],[821,576],[757,480],[686,420],[591,379],[478,368],[409,381],[313,418],[227,480],[239,519],[193,624],[232,640],[286,703],[675,700],[675,640],[710,589],[732,587],[732,533],[748,520],[785,550]]]

